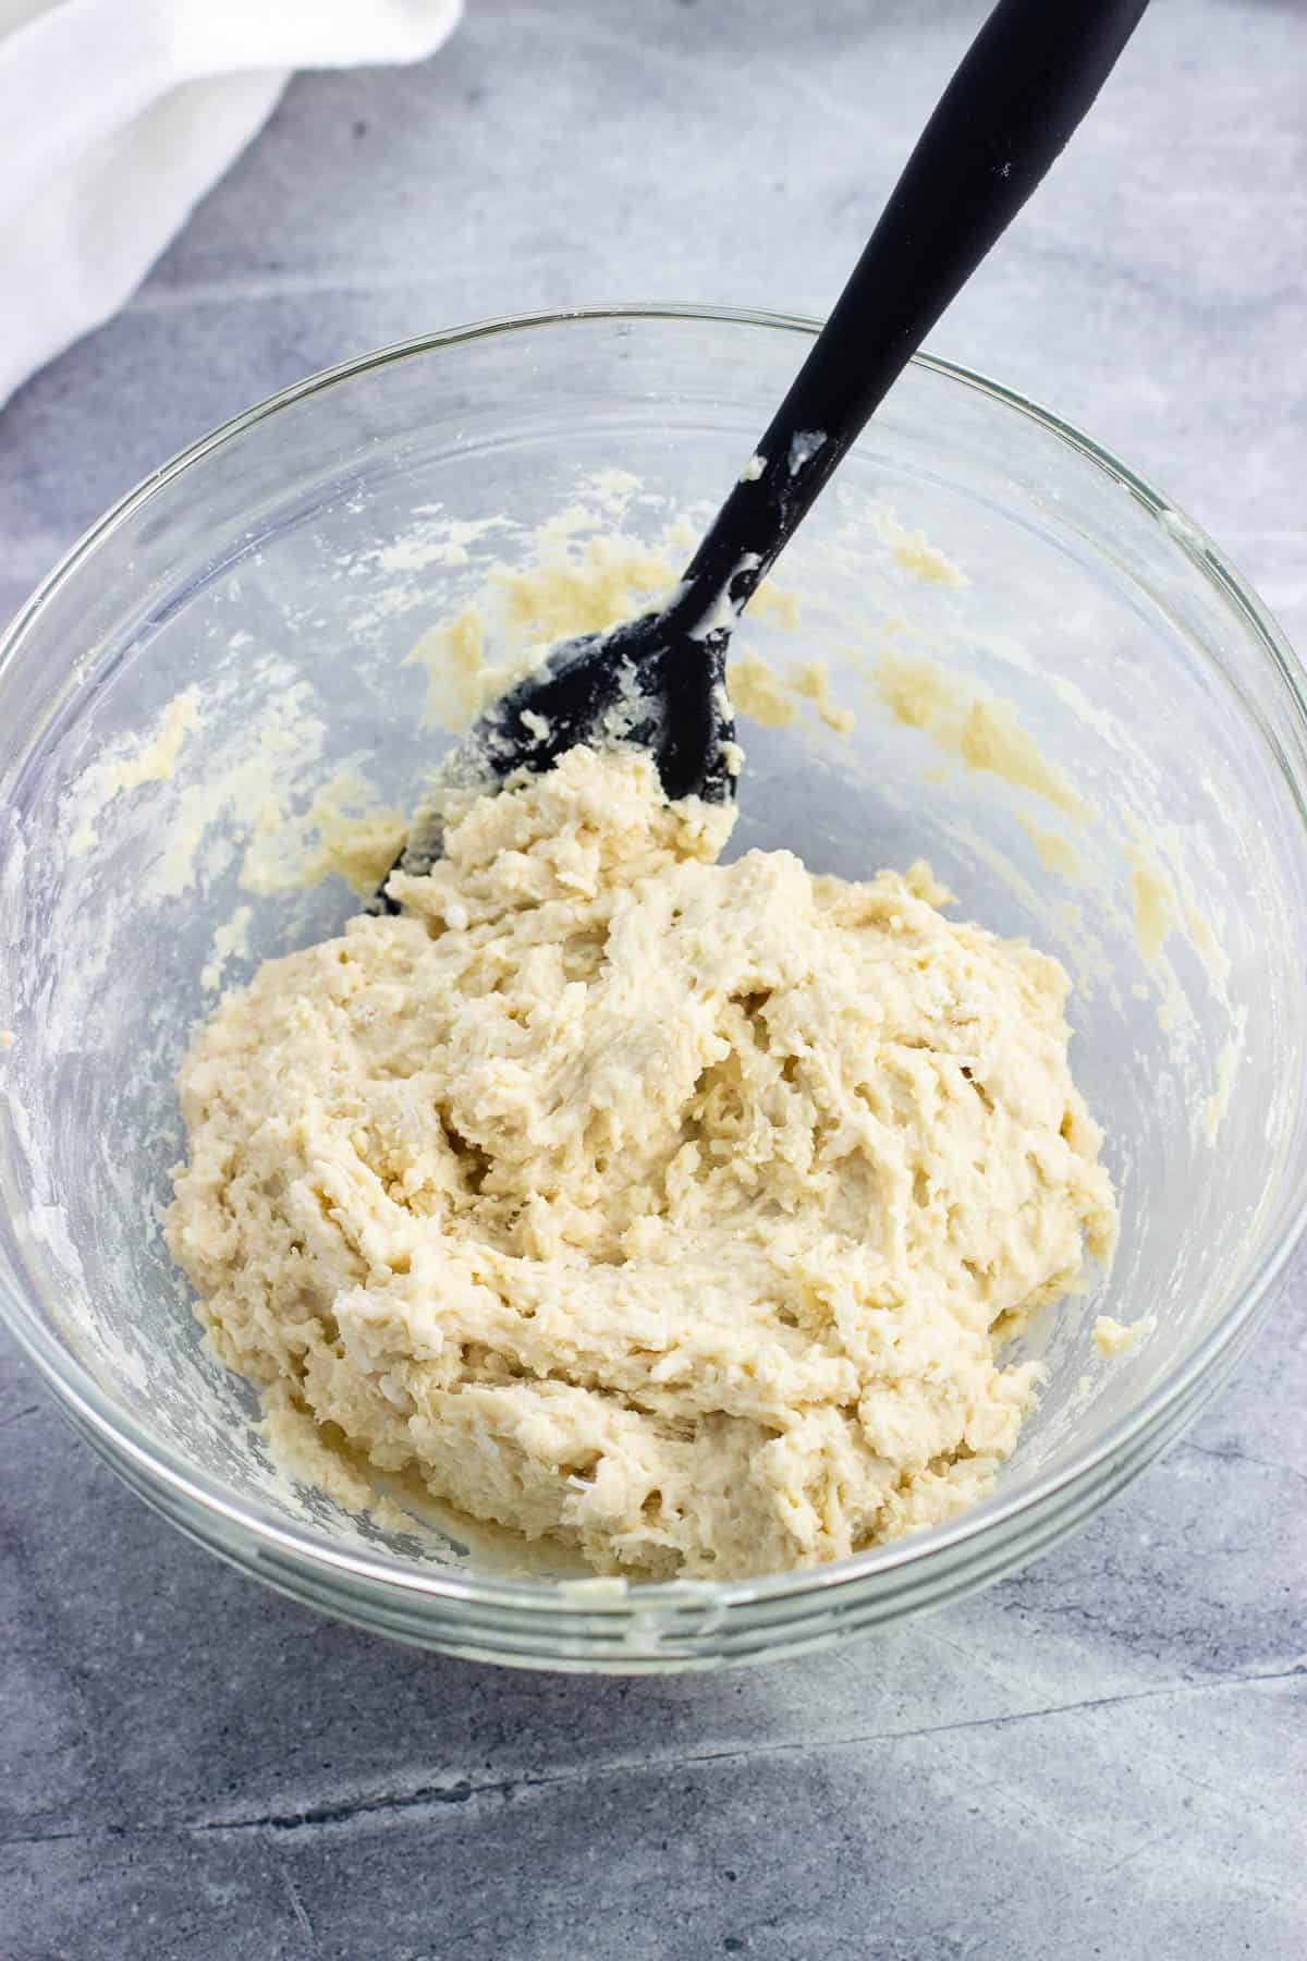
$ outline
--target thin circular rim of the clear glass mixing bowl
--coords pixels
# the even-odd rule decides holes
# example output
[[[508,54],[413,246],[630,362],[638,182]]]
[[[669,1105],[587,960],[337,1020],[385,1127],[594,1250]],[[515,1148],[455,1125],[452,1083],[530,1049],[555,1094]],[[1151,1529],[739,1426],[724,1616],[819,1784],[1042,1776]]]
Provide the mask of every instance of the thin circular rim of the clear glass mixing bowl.
[[[59,559],[59,563],[37,584],[29,600],[20,606],[10,626],[0,631],[0,679],[22,651],[24,641],[51,604],[53,596],[76,577],[94,551],[151,498],[165,492],[176,478],[202,463],[225,443],[235,441],[247,429],[270,416],[292,408],[314,394],[323,394],[341,382],[357,380],[374,369],[392,367],[398,361],[415,359],[445,347],[490,335],[521,333],[533,327],[558,327],[572,322],[602,324],[615,320],[647,322],[709,322],[719,326],[764,327],[811,339],[821,329],[821,320],[803,314],[778,314],[758,308],[705,306],[694,302],[613,302],[594,306],[545,308],[525,314],[502,314],[474,320],[462,326],[441,327],[431,333],[394,341],[327,369],[304,377],[298,382],[278,388],[263,400],[241,410],[237,416],[218,424],[206,435],[188,443],[159,469],[114,502],[102,518],[92,524],[82,537]],[[1138,477],[1129,465],[1091,437],[1084,435],[1070,422],[1041,406],[1031,396],[1021,394],[1003,382],[992,380],[974,369],[939,355],[917,353],[911,367],[927,371],[946,382],[978,392],[1003,410],[1011,410],[1054,435],[1074,449],[1088,463],[1101,469],[1117,484],[1127,488],[1148,514],[1162,522],[1180,549],[1215,584],[1221,598],[1233,606],[1250,637],[1268,657],[1274,679],[1287,698],[1289,714],[1297,720],[1299,749],[1307,757],[1307,671],[1291,651],[1283,631],[1250,588],[1234,571],[1215,541],[1178,504],[1162,496],[1150,482]],[[1285,779],[1297,814],[1307,835],[1307,780],[1295,780],[1293,771],[1280,757],[1280,775]],[[225,1522],[237,1534],[247,1535],[255,1547],[276,1547],[294,1563],[335,1569],[351,1583],[396,1588],[410,1596],[425,1596],[433,1606],[476,1606],[504,1608],[506,1612],[533,1614],[541,1620],[570,1618],[578,1612],[604,1620],[623,1622],[635,1614],[654,1616],[658,1608],[676,1610],[690,1604],[711,1606],[717,1614],[750,1608],[764,1602],[803,1600],[831,1588],[848,1588],[866,1583],[874,1584],[882,1575],[905,1567],[921,1567],[929,1561],[946,1563],[948,1555],[966,1547],[972,1539],[1009,1524],[1027,1514],[1039,1514],[1050,1498],[1070,1488],[1082,1490],[1105,1461],[1125,1455],[1133,1443],[1158,1430],[1162,1418],[1186,1402],[1197,1381],[1215,1371],[1219,1357],[1238,1339],[1268,1288],[1282,1275],[1285,1263],[1307,1232],[1307,1171],[1299,1175],[1299,1190],[1287,1208],[1278,1239],[1262,1253],[1260,1263],[1238,1286],[1225,1314],[1195,1347],[1170,1369],[1131,1410],[1119,1416],[1089,1445],[1074,1451],[1068,1461],[1042,1477],[1033,1479],[1013,1496],[990,1496],[962,1512],[958,1518],[935,1526],[923,1534],[909,1534],[890,1539],[847,1559],[817,1567],[801,1567],[786,1573],[758,1575],[741,1581],[617,1581],[596,1583],[594,1579],[494,1579],[480,1575],[449,1573],[445,1569],[423,1569],[406,1565],[384,1551],[363,1551],[347,1547],[327,1534],[302,1528],[272,1512],[255,1498],[237,1498],[219,1479],[204,1469],[170,1441],[153,1435],[131,1412],[121,1410],[98,1384],[94,1375],[49,1332],[45,1322],[29,1304],[8,1288],[0,1286],[0,1320],[10,1328],[20,1349],[37,1367],[41,1377],[55,1390],[67,1414],[90,1432],[92,1441],[100,1439],[110,1461],[121,1455],[129,1459],[147,1483],[167,1488],[174,1498],[194,1506],[198,1512]],[[139,1488],[139,1486],[137,1486]],[[784,1637],[784,1622],[776,1622],[774,1632]]]

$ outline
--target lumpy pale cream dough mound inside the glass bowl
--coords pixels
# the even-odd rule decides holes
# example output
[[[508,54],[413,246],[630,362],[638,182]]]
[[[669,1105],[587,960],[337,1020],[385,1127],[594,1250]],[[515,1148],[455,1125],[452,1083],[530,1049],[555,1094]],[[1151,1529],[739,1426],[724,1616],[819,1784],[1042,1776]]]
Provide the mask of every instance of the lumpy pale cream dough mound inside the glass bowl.
[[[921,865],[719,865],[729,830],[574,749],[180,1073],[167,1233],[221,1357],[600,1573],[972,1504],[1035,1392],[1001,1341],[1113,1233],[1058,963]]]

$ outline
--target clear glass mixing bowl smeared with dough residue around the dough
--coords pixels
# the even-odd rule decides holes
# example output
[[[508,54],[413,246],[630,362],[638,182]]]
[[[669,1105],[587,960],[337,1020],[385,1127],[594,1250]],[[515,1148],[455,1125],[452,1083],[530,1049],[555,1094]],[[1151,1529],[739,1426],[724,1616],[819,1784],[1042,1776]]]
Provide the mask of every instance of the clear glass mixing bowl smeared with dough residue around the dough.
[[[993,1494],[815,1571],[513,1579],[457,1532],[386,1532],[282,1475],[251,1392],[204,1353],[157,1210],[214,928],[249,906],[231,980],[355,910],[333,879],[241,888],[268,782],[290,818],[343,767],[404,806],[443,745],[404,655],[484,577],[478,559],[529,549],[523,529],[468,537],[447,520],[529,528],[582,482],[582,502],[654,537],[721,496],[813,331],[613,308],[349,363],[141,484],[4,641],[0,1308],[147,1502],[384,1634],[541,1667],[688,1669],[952,1600],[1072,1532],[1178,1433],[1303,1228],[1301,669],[1211,541],[1125,465],[919,359],[782,561],[799,629],[780,604],[741,633],[782,673],[825,659],[856,726],[837,735],[807,710],[747,726],[735,847],[790,845],[854,877],[925,855],[966,916],[1029,933],[1082,982],[1074,1067],[1107,1133],[1121,1247],[1095,1292],[1025,1337],[1048,1381]],[[641,488],[596,478],[611,469]],[[931,577],[917,529],[966,582]],[[896,649],[944,671],[933,731],[882,698]],[[169,743],[182,690],[202,720]],[[968,722],[976,702],[999,706]],[[1027,749],[1007,739],[1017,724]],[[1007,731],[1005,763],[978,745],[986,728]],[[1099,1312],[1156,1326],[1101,1361]]]

